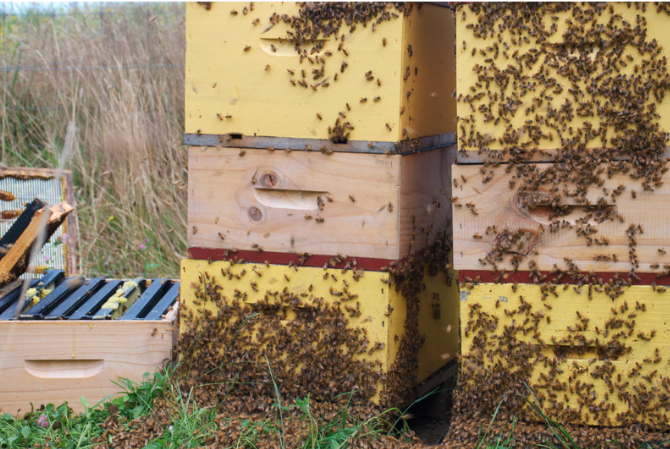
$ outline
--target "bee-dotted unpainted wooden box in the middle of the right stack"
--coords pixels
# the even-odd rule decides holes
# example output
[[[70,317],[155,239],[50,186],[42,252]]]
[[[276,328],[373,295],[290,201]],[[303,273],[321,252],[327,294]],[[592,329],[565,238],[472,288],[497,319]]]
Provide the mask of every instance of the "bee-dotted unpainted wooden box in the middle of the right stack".
[[[524,201],[531,203],[535,200],[544,201],[550,198],[549,186],[542,186],[538,193],[520,193],[520,182],[510,188],[512,173],[505,173],[504,167],[494,171],[491,181],[484,183],[480,168],[475,165],[453,166],[454,180],[459,184],[454,189],[453,196],[457,197],[459,206],[453,206],[454,213],[454,266],[458,270],[491,270],[492,265],[482,264],[479,260],[486,260],[488,254],[499,247],[501,234],[505,228],[511,232],[521,230],[527,241],[520,247],[506,251],[505,260],[498,262],[499,269],[512,270],[511,263],[515,254],[523,256],[519,270],[532,269],[529,263],[534,261],[540,271],[552,271],[554,266],[560,269],[568,267],[566,258],[571,259],[578,269],[584,272],[627,272],[632,268],[629,257],[629,237],[626,234],[631,224],[641,225],[643,233],[636,232],[635,251],[639,266],[637,272],[660,273],[663,265],[670,263],[670,255],[664,251],[668,248],[668,215],[670,204],[670,179],[668,174],[663,175],[664,184],[656,191],[644,191],[640,180],[632,180],[628,175],[614,175],[611,179],[604,179],[603,185],[588,191],[586,198],[595,204],[604,198],[612,210],[621,214],[623,220],[605,221],[597,223],[591,218],[589,224],[597,229],[593,239],[603,237],[608,244],[598,244],[593,240],[591,245],[585,237],[577,235],[576,220],[585,216],[584,207],[571,204],[572,212],[561,217],[573,226],[572,229],[563,228],[550,232],[552,211],[550,206],[527,207]],[[463,182],[461,176],[466,182]],[[621,196],[612,197],[612,192],[624,186]],[[576,186],[565,185],[561,188],[574,190]],[[603,190],[604,189],[604,190]],[[605,194],[605,190],[607,194]],[[635,198],[632,197],[635,191]],[[564,198],[567,198],[563,195]],[[477,215],[466,205],[472,203]],[[486,233],[489,226],[495,226],[498,234]],[[613,260],[613,255],[616,261]],[[658,264],[658,267],[656,267]]]

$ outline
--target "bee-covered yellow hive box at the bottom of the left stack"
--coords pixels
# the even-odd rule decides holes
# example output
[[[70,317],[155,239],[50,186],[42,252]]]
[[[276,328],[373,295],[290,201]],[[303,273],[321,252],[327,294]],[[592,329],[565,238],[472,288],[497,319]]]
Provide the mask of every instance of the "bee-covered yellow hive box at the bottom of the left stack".
[[[420,265],[407,295],[379,270],[184,259],[181,344],[197,341],[199,349],[183,352],[182,362],[199,373],[218,370],[201,382],[222,384],[225,369],[215,366],[252,364],[231,375],[252,385],[249,371],[267,371],[267,356],[292,395],[309,390],[324,399],[351,389],[375,402],[406,400],[457,351],[455,283],[429,271]],[[235,351],[246,362],[226,359]]]

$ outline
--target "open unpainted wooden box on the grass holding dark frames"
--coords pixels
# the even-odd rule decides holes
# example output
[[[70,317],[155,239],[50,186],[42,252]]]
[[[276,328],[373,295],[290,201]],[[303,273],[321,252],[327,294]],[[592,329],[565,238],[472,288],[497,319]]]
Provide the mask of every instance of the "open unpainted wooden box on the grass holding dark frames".
[[[118,378],[141,383],[146,373],[153,374],[174,361],[178,284],[155,280],[140,294],[138,283],[146,281],[138,280],[126,289],[118,280],[96,278],[84,284],[72,280],[63,279],[62,271],[51,270],[41,280],[31,281],[31,289],[45,289],[47,294],[36,304],[26,305],[20,319],[14,319],[21,288],[16,283],[20,281],[3,290],[2,412],[17,414],[64,401],[75,411],[83,411],[81,396],[93,406],[123,393],[113,383]],[[39,283],[42,281],[44,284]],[[122,286],[127,304],[132,305],[119,316],[112,309],[100,309]],[[104,319],[106,314],[114,319]]]

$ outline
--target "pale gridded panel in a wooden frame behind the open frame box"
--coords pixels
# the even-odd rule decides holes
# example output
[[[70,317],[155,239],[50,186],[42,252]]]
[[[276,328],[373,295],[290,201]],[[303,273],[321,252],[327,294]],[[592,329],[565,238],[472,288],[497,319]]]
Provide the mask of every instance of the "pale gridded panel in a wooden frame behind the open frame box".
[[[35,198],[39,198],[50,206],[66,201],[61,178],[23,180],[5,177],[0,179],[0,190],[11,192],[16,197],[14,201],[0,201],[0,210],[18,209],[23,211],[24,205]],[[15,221],[16,219],[4,220],[0,218],[0,235],[4,235]],[[62,237],[66,232],[65,230],[66,227],[63,224],[54,232],[51,239],[49,239],[37,255],[37,259],[34,262],[35,266],[47,266],[48,268],[67,270],[67,245],[62,243],[62,240],[67,240],[67,238]],[[42,275],[26,274],[22,278],[27,276],[35,278]]]

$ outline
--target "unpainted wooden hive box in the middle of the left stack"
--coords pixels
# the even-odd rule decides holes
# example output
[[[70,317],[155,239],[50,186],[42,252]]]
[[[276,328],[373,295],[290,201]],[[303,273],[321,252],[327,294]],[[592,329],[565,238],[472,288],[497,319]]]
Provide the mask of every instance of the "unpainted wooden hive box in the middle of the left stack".
[[[453,146],[404,156],[191,147],[191,257],[221,259],[201,250],[236,249],[260,261],[311,253],[388,265],[383,260],[404,258],[410,246],[420,251],[449,223],[454,153]]]

